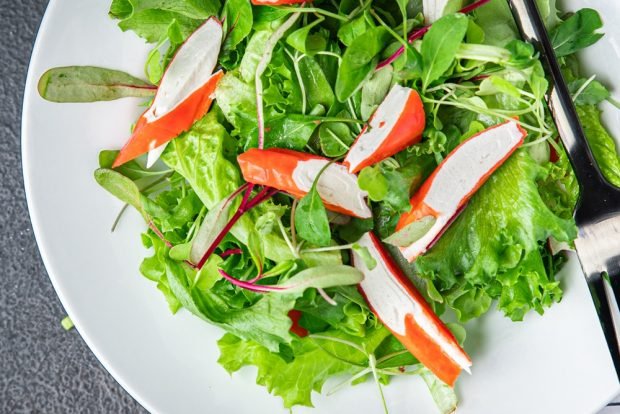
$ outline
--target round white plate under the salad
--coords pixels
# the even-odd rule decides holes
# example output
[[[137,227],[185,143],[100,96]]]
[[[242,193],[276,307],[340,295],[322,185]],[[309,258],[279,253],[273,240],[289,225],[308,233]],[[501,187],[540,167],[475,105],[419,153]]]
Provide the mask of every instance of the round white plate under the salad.
[[[608,36],[586,61],[617,83],[617,2],[569,2],[603,11]],[[255,371],[230,378],[217,365],[222,332],[186,312],[172,316],[155,286],[141,277],[145,255],[137,214],[110,225],[120,202],[93,179],[97,154],[120,147],[138,101],[53,104],[36,91],[40,75],[61,65],[99,65],[142,76],[147,47],[107,17],[106,0],[52,0],[32,55],[23,113],[23,165],[30,215],[43,260],[68,314],[110,373],[148,410],[159,413],[286,412],[254,384]],[[620,136],[618,111],[608,124]],[[611,117],[614,117],[613,119]],[[497,312],[468,327],[473,375],[459,381],[459,413],[591,413],[619,391],[594,306],[576,260],[560,275],[565,297],[544,317],[512,323]],[[435,412],[418,379],[386,388],[392,413]],[[368,382],[331,397],[316,411],[380,412]],[[313,412],[299,409],[295,412]]]

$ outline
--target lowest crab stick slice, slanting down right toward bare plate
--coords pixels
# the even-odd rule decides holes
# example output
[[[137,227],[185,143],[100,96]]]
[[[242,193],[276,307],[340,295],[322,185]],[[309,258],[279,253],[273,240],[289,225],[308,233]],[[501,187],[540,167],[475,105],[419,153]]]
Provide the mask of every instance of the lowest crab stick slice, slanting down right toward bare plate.
[[[364,273],[360,290],[368,305],[394,336],[440,380],[450,386],[472,363],[452,332],[435,315],[411,281],[371,232],[358,241],[377,265],[368,269],[354,251],[353,265]]]

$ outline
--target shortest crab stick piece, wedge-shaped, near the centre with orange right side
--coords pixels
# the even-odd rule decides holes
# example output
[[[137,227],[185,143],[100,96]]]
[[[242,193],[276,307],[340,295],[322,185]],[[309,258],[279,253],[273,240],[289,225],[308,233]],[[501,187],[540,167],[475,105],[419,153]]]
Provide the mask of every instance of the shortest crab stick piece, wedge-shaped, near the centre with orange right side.
[[[344,164],[357,173],[420,142],[426,116],[420,95],[394,85],[349,150]]]

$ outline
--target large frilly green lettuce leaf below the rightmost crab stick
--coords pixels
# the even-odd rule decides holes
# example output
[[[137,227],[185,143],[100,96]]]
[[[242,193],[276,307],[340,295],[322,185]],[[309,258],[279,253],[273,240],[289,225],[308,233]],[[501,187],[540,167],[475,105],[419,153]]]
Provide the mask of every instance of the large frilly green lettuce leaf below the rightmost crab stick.
[[[461,321],[498,307],[513,320],[561,298],[541,266],[541,243],[572,241],[572,219],[554,214],[537,182],[548,171],[526,151],[513,155],[478,191],[461,216],[415,265]],[[501,298],[504,298],[503,300]],[[511,300],[508,300],[511,298]],[[511,303],[515,301],[515,303]]]

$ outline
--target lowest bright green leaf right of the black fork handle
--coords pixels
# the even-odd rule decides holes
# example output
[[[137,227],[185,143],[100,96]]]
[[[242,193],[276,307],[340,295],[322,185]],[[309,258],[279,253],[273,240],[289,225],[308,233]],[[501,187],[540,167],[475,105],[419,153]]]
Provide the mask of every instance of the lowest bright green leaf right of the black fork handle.
[[[601,122],[601,110],[594,105],[579,105],[577,114],[603,176],[611,184],[620,187],[620,156],[616,142]]]

